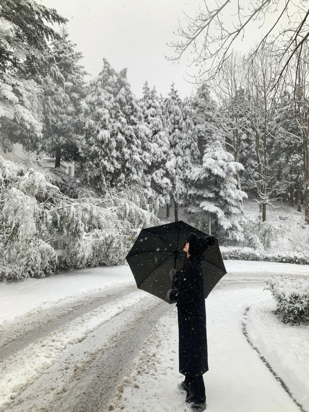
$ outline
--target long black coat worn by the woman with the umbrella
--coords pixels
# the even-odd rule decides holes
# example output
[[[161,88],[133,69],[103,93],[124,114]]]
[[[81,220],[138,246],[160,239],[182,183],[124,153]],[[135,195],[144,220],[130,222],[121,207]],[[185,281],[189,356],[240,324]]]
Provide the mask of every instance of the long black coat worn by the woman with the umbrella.
[[[178,309],[179,372],[203,375],[208,371],[203,270],[193,255],[176,272],[170,300],[177,302]]]

